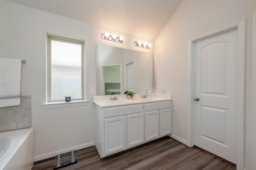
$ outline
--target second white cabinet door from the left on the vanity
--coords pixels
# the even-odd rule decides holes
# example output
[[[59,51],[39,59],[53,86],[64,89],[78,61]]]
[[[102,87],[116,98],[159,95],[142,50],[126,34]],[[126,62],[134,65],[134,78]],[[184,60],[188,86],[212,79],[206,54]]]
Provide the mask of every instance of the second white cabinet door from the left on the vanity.
[[[144,142],[144,114],[127,116],[127,148]]]

